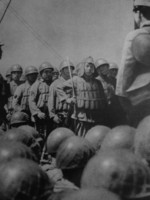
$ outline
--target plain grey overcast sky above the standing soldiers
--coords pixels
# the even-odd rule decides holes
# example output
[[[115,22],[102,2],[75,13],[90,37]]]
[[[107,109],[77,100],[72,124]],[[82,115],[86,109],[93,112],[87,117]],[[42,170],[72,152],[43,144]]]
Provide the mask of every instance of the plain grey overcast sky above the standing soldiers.
[[[132,0],[12,0],[0,24],[1,71],[12,64],[58,66],[87,56],[120,63],[133,29]]]

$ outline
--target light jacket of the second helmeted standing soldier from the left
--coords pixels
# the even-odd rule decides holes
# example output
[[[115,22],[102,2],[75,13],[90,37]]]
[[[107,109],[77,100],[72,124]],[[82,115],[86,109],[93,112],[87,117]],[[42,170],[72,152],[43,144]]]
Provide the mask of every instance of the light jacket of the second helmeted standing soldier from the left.
[[[25,111],[27,113],[30,113],[29,111],[30,88],[31,85],[29,84],[28,81],[17,87],[13,98],[14,111]]]

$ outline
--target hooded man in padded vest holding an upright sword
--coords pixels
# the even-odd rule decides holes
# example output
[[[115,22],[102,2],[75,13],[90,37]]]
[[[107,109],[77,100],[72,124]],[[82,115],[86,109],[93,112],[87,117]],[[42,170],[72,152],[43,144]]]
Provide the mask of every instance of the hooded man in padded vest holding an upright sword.
[[[61,101],[74,103],[71,118],[74,121],[73,131],[84,137],[86,132],[96,124],[103,124],[103,114],[106,98],[100,81],[96,80],[95,65],[92,57],[86,58],[77,68],[72,79],[65,81],[57,87]],[[73,97],[68,98],[64,92],[66,88],[73,91]]]

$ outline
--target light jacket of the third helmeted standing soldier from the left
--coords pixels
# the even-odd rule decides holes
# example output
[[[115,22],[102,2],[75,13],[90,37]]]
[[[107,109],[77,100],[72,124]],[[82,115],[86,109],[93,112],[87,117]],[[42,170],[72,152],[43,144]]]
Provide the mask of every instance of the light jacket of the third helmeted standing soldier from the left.
[[[37,80],[30,88],[29,108],[32,116],[44,112],[48,114],[49,85],[44,80]]]

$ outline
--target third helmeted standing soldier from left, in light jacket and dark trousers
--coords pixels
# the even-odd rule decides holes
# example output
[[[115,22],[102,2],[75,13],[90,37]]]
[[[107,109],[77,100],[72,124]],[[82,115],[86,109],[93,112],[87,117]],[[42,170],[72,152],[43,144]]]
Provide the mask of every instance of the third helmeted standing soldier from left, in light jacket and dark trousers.
[[[49,86],[52,83],[54,68],[49,62],[44,62],[39,67],[40,80],[37,80],[30,89],[29,108],[35,121],[37,131],[44,138],[49,134],[51,121],[48,114]]]

